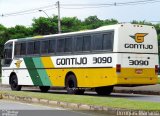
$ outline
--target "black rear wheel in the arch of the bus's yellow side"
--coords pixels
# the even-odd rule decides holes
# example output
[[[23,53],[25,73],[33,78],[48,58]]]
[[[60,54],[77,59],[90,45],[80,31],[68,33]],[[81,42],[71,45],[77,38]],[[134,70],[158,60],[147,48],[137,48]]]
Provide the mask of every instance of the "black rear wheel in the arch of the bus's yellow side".
[[[77,88],[77,79],[75,75],[70,74],[67,76],[66,82],[66,89],[68,94],[76,94],[76,95],[83,95],[84,89],[78,89]]]

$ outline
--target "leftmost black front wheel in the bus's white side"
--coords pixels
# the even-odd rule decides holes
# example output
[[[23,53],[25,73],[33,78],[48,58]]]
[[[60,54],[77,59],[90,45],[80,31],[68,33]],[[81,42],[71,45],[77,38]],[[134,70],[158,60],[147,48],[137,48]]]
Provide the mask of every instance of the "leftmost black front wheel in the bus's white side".
[[[13,91],[21,91],[22,86],[18,85],[18,78],[16,75],[10,77],[10,86]]]

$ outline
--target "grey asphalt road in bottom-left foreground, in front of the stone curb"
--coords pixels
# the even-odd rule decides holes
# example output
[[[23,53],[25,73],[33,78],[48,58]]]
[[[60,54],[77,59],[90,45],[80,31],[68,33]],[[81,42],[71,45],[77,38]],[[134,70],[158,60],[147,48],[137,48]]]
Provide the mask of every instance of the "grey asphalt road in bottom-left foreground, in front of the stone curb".
[[[0,100],[2,116],[106,116],[105,113],[89,111],[73,111],[58,107]],[[107,115],[111,116],[111,115]]]

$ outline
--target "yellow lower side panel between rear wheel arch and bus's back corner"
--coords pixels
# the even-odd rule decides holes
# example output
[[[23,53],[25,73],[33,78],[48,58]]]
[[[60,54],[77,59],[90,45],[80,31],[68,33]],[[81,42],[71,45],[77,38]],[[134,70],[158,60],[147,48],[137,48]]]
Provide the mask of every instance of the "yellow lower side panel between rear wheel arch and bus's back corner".
[[[115,85],[117,83],[115,68],[80,69],[75,72],[79,87],[92,88]],[[83,74],[83,78],[79,74]]]

